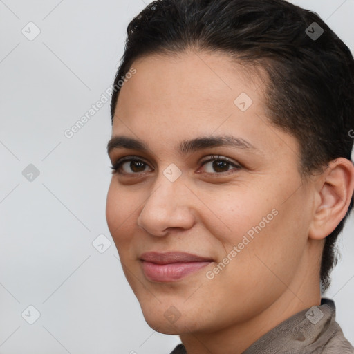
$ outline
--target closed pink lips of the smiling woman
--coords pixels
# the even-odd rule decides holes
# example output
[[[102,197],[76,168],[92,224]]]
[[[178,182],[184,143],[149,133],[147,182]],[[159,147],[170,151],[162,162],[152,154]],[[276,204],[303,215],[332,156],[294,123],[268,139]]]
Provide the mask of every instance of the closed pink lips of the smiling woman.
[[[213,260],[185,252],[147,252],[140,256],[142,271],[151,281],[176,281],[205,267]]]

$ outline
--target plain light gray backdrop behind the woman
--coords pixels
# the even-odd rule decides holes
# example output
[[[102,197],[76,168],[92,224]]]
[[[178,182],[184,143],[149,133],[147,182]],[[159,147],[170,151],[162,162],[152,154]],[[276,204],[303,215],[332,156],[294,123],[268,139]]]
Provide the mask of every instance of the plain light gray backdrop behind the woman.
[[[318,12],[353,52],[353,0],[294,3]],[[112,84],[127,24],[144,7],[0,0],[0,353],[165,354],[179,342],[145,323],[106,226],[109,103],[64,136]],[[41,31],[32,41],[21,32],[30,21]],[[40,172],[32,182],[22,174],[29,164]],[[326,294],[352,343],[353,230],[352,216]],[[92,245],[100,234],[112,242],[104,253]],[[30,305],[40,313],[32,325]]]

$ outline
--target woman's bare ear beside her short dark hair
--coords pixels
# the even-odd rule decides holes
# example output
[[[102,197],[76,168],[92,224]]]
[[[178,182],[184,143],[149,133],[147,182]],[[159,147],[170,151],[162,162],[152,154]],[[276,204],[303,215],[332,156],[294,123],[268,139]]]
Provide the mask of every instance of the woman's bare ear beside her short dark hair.
[[[346,158],[337,158],[315,183],[317,203],[308,237],[324,239],[342,221],[348,211],[354,190],[353,162]]]

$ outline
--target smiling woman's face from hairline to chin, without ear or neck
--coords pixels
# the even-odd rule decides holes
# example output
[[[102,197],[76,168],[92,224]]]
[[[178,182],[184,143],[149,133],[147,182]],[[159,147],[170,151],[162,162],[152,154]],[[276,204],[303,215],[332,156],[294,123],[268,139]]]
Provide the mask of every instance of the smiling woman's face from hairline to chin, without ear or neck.
[[[124,274],[161,333],[241,324],[304,277],[313,199],[297,140],[266,118],[261,77],[226,55],[132,66],[113,119],[106,204]]]

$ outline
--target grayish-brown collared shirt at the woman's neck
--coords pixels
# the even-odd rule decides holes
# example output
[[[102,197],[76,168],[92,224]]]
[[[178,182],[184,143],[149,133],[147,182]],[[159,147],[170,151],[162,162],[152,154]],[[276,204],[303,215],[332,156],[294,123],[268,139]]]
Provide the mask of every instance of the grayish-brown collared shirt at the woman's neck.
[[[171,354],[187,354],[178,344]],[[335,303],[321,299],[313,306],[292,315],[249,346],[243,354],[354,354],[335,321]]]

